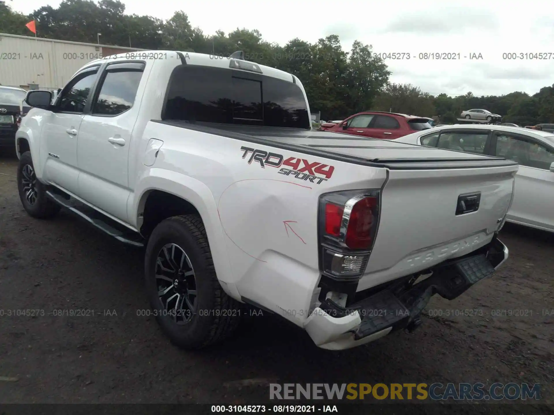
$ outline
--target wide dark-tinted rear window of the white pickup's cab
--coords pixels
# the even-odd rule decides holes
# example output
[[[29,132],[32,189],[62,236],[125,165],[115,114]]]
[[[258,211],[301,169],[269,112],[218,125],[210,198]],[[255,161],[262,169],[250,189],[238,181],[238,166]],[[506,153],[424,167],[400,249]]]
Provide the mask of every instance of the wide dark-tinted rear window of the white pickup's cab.
[[[164,120],[311,128],[302,90],[260,74],[183,65],[173,72]]]

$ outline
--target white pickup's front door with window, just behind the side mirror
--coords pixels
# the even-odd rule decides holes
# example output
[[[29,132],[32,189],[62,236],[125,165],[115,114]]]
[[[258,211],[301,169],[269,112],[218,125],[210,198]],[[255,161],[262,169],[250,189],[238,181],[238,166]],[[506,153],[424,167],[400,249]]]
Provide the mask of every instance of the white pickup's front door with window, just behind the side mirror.
[[[76,75],[64,88],[54,112],[45,115],[40,158],[44,160],[44,179],[78,193],[77,142],[83,111],[99,66]],[[44,153],[43,153],[44,152]]]

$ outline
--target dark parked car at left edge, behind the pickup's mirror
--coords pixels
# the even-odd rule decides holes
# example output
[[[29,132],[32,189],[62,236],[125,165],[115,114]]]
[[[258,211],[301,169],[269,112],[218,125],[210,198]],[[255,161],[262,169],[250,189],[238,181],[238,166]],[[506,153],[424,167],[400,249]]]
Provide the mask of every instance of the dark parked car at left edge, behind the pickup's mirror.
[[[23,103],[26,94],[21,88],[0,86],[0,148],[16,148],[18,121],[30,110]]]

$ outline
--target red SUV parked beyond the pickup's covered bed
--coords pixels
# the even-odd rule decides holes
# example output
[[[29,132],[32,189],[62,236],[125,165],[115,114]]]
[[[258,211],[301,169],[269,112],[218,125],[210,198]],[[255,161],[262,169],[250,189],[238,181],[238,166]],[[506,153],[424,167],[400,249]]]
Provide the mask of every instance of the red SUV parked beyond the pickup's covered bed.
[[[352,115],[338,124],[324,123],[321,128],[325,131],[392,140],[414,131],[432,128],[428,121],[428,118],[396,112],[364,111]]]

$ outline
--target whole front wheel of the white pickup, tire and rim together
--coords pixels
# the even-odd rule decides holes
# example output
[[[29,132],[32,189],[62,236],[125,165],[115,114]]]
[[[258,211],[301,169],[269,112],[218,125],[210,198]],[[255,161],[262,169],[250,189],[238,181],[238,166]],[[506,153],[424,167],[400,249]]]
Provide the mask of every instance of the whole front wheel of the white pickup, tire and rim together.
[[[48,219],[55,216],[61,206],[46,195],[46,186],[40,183],[34,172],[33,158],[29,151],[24,152],[19,159],[17,168],[17,189],[23,209],[38,219]]]

